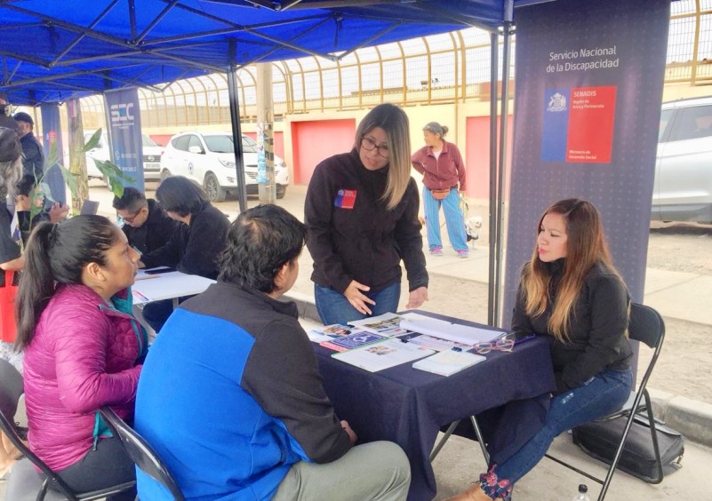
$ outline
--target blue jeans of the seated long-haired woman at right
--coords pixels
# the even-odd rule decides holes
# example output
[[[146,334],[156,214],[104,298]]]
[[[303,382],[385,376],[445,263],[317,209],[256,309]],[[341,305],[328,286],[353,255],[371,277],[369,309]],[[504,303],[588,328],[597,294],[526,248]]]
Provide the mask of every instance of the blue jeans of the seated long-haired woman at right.
[[[604,370],[581,386],[551,399],[547,419],[540,431],[522,449],[501,465],[490,465],[489,473],[480,476],[480,485],[491,497],[508,498],[508,494],[488,489],[487,484],[499,481],[511,486],[528,473],[547,453],[551,442],[560,433],[602,418],[619,410],[628,400],[633,386],[630,369]],[[488,478],[489,477],[489,478]]]

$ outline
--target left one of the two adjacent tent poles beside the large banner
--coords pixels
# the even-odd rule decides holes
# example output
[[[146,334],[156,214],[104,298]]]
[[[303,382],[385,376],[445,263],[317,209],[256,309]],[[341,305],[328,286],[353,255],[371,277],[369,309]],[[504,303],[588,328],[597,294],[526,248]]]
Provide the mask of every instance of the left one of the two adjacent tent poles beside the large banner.
[[[496,31],[490,34],[490,263],[489,281],[487,290],[487,324],[494,325],[494,243],[497,234],[494,228],[497,221],[498,204],[495,200],[497,194],[497,75],[499,66],[498,45],[499,35]]]

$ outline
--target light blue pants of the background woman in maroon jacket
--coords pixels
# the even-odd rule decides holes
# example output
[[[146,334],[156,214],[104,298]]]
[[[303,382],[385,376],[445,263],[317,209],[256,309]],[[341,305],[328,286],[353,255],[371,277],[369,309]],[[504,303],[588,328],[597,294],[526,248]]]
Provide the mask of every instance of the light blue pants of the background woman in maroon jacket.
[[[450,195],[443,200],[436,200],[427,187],[423,187],[423,212],[425,213],[425,228],[428,231],[428,247],[442,247],[440,239],[440,206],[445,214],[447,236],[455,251],[468,250],[468,236],[465,234],[465,218],[460,211],[460,195],[452,188]]]

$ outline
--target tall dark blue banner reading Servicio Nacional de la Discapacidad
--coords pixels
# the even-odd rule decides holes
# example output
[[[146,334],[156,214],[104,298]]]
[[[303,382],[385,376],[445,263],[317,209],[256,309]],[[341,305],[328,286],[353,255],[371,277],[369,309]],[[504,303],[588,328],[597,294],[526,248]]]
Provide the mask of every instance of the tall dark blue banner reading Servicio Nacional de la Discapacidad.
[[[669,0],[559,0],[516,9],[514,154],[503,322],[542,211],[583,198],[642,301]]]

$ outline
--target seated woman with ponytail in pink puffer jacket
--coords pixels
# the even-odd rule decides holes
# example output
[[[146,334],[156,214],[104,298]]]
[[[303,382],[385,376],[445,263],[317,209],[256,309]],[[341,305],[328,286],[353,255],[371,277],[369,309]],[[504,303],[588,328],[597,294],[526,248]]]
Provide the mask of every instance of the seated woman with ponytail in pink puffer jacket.
[[[73,489],[135,479],[97,410],[111,405],[133,416],[147,349],[131,314],[138,261],[124,233],[101,216],[44,222],[25,251],[15,346],[25,352],[29,446]]]

